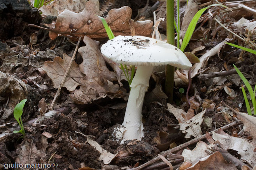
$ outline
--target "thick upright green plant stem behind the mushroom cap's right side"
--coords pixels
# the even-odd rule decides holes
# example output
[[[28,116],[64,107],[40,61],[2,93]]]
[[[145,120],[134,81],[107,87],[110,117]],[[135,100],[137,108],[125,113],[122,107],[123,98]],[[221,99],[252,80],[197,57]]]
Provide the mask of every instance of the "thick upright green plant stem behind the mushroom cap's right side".
[[[166,21],[167,21],[167,43],[175,45],[174,41],[174,0],[167,0],[166,5]],[[175,67],[167,65],[165,69],[165,92],[168,96],[168,103],[173,101],[173,88],[174,88],[174,71]]]

